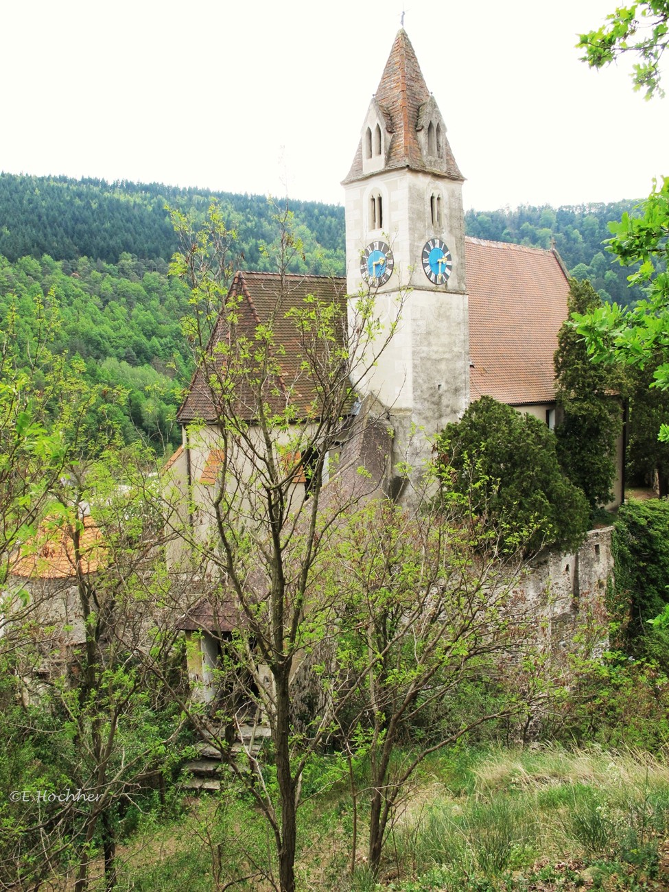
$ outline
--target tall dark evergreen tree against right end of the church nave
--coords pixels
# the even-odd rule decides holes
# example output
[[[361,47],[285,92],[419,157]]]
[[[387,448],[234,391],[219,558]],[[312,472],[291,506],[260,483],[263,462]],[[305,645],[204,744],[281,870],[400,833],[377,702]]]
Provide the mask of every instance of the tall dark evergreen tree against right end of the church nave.
[[[571,280],[567,307],[587,313],[601,306],[590,282]],[[591,509],[612,498],[616,441],[622,431],[620,376],[615,368],[590,361],[582,338],[568,322],[558,333],[555,354],[556,400],[562,420],[556,427],[558,461],[566,476],[580,487]]]

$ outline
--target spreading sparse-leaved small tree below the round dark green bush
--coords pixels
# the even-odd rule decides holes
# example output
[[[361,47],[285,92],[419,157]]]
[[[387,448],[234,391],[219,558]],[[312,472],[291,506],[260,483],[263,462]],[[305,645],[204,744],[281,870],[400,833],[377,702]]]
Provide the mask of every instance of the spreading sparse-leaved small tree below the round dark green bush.
[[[531,613],[516,585],[519,550],[500,550],[457,497],[429,512],[376,500],[333,543],[326,575],[339,592],[334,690],[351,765],[369,766],[368,864],[376,875],[397,805],[427,756],[484,723],[531,714],[546,697],[529,640]],[[508,542],[507,542],[508,544]],[[524,672],[523,670],[527,670]],[[485,679],[492,698],[450,716],[459,690]],[[332,683],[332,682],[331,682]],[[346,701],[349,702],[346,702]],[[398,744],[410,740],[408,751]],[[351,865],[356,859],[352,840]]]

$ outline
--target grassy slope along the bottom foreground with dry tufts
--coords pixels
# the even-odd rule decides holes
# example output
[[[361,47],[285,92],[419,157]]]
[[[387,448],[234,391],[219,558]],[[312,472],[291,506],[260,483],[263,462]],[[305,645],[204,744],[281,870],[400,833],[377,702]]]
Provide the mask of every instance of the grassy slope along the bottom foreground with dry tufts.
[[[324,776],[327,772],[324,762]],[[318,778],[312,778],[315,788]],[[396,815],[375,879],[366,803],[350,875],[344,784],[301,810],[298,888],[330,892],[529,892],[660,889],[669,876],[669,766],[643,752],[468,751],[434,756]],[[665,851],[666,848],[666,851]],[[178,822],[141,828],[123,847],[120,889],[271,888],[272,839],[249,800],[202,797]],[[665,865],[666,863],[666,865]],[[252,879],[242,880],[255,871]]]

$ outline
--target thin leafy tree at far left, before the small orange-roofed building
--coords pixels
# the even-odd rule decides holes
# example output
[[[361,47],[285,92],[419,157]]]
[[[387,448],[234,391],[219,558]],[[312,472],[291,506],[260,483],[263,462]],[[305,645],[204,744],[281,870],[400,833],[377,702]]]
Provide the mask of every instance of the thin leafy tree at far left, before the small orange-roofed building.
[[[146,780],[169,767],[181,725],[174,708],[161,706],[141,659],[151,649],[169,665],[176,634],[165,622],[169,582],[156,547],[162,518],[143,498],[156,485],[145,462],[137,450],[111,450],[95,464],[65,468],[48,513],[14,556],[0,661],[24,698],[35,698],[40,725],[51,724],[58,760],[57,772],[45,772],[51,797],[4,815],[12,833],[2,855],[15,865],[14,881],[37,882],[69,862],[74,889],[84,892],[99,846],[105,888],[113,888],[120,818]],[[161,633],[166,626],[171,634]],[[21,716],[2,732],[9,746],[21,746]],[[26,789],[30,772],[17,780]],[[45,833],[33,832],[35,824]]]

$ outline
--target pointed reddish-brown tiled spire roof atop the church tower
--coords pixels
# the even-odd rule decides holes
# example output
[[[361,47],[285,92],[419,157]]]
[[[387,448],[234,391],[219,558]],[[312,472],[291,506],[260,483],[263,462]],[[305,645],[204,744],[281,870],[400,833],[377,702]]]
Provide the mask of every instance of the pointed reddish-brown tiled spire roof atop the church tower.
[[[424,126],[426,106],[429,104],[436,107],[436,103],[425,85],[416,53],[403,28],[397,32],[372,102],[376,103],[381,112],[386,132],[390,135],[384,169],[433,170],[433,167],[428,167],[425,163],[417,131]],[[442,139],[443,168],[434,171],[461,180],[463,176],[450,151],[445,134]],[[362,140],[360,140],[351,170],[343,182],[349,183],[363,176],[365,175],[362,163]]]

